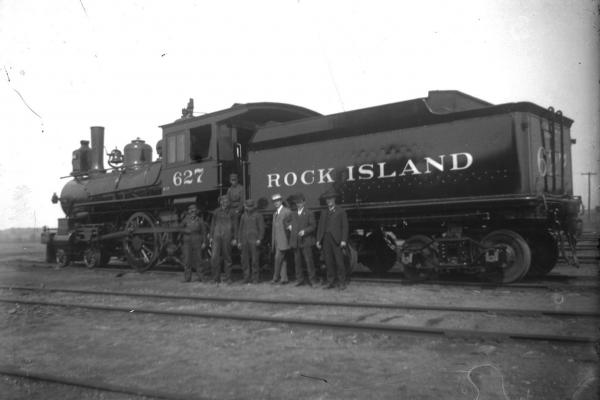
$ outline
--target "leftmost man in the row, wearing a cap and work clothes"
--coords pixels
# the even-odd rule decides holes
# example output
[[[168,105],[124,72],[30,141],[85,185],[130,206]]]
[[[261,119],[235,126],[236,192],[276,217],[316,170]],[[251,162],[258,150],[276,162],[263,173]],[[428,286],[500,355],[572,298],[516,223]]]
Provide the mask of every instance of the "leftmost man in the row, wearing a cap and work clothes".
[[[183,265],[184,282],[192,280],[192,269],[196,270],[198,280],[202,280],[202,250],[206,247],[206,225],[198,214],[196,204],[190,204],[187,213],[181,220],[183,231]]]

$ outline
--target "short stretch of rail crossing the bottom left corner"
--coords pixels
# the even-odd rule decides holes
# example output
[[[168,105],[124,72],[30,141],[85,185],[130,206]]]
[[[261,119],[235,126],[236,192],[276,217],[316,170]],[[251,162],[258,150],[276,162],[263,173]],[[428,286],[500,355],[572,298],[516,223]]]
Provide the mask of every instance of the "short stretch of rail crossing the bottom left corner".
[[[121,393],[134,395],[138,397],[149,397],[152,399],[163,400],[203,400],[206,397],[196,395],[179,395],[175,393],[166,393],[158,390],[128,387],[102,382],[98,379],[77,379],[64,376],[51,375],[44,372],[25,371],[11,365],[0,365],[0,375],[12,376],[14,378],[26,378],[35,381],[50,382],[67,386],[77,386],[85,389],[98,390],[102,392]]]

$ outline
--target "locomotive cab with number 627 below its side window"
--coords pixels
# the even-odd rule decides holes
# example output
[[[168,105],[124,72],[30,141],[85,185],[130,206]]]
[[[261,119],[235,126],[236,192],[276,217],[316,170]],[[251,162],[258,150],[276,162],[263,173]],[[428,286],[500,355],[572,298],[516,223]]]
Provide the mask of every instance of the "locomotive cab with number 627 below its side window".
[[[162,194],[216,207],[217,197],[237,173],[248,196],[248,144],[256,130],[269,122],[285,122],[319,115],[280,103],[234,104],[198,117],[183,116],[163,125]]]

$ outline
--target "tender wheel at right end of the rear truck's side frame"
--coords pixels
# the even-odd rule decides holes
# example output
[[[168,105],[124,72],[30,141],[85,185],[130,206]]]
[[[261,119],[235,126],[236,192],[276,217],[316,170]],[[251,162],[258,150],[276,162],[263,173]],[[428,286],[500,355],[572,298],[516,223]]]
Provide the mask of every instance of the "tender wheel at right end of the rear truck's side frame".
[[[501,229],[493,231],[481,241],[488,250],[500,250],[497,262],[489,265],[484,278],[497,283],[516,282],[527,274],[531,264],[531,250],[521,235]]]

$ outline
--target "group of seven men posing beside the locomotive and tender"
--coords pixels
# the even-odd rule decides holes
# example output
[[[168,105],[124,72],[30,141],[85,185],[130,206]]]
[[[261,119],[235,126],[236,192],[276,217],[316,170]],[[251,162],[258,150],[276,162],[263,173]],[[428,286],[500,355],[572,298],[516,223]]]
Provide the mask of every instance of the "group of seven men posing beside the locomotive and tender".
[[[259,283],[260,248],[265,234],[262,214],[252,199],[243,200],[243,187],[237,175],[231,174],[231,186],[226,195],[219,198],[219,207],[213,211],[210,228],[199,216],[195,204],[188,206],[181,225],[185,228],[183,240],[184,280],[189,282],[195,267],[199,279],[212,283],[231,284],[231,249],[237,246],[241,253],[242,283]],[[295,286],[319,283],[324,289],[346,289],[348,274],[344,251],[348,247],[348,218],[346,212],[336,205],[337,194],[325,192],[327,208],[321,212],[317,225],[314,213],[305,207],[306,199],[299,193],[290,200],[296,205],[291,210],[284,204],[281,194],[271,197],[275,212],[271,227],[271,251],[274,256],[274,272],[271,284],[293,283]],[[202,253],[212,243],[210,270],[203,267]],[[319,280],[313,259],[313,247],[323,252],[327,266],[326,276]],[[288,277],[287,258],[293,254],[295,281]],[[221,274],[223,264],[223,274]]]

